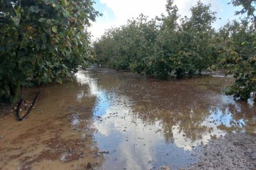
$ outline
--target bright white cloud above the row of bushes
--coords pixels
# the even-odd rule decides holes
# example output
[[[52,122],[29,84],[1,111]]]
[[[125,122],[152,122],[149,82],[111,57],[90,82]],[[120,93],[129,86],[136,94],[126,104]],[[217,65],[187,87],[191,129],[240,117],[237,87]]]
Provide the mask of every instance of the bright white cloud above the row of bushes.
[[[149,18],[155,18],[156,15],[165,13],[166,0],[100,0],[101,4],[113,10],[116,18],[109,20],[106,11],[106,20],[93,23],[92,31],[95,38],[99,38],[104,33],[105,29],[111,28],[111,26],[123,25],[128,19],[136,18],[139,14],[147,15]],[[204,4],[211,4],[211,10],[220,12],[223,8],[221,0],[202,0]],[[179,14],[182,16],[190,16],[190,7],[194,6],[197,0],[174,0],[174,4],[179,8]]]

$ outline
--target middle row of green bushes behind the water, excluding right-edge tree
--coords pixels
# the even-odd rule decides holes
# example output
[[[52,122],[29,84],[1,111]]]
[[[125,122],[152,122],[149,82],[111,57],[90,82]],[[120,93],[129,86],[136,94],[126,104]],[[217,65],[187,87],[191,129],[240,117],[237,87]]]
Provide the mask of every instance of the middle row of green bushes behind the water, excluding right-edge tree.
[[[216,60],[216,20],[209,5],[198,1],[191,18],[180,18],[173,1],[168,15],[148,20],[140,15],[127,25],[106,31],[94,43],[98,63],[114,69],[129,69],[166,79],[170,73],[182,77],[200,73]],[[181,19],[181,24],[178,24]]]

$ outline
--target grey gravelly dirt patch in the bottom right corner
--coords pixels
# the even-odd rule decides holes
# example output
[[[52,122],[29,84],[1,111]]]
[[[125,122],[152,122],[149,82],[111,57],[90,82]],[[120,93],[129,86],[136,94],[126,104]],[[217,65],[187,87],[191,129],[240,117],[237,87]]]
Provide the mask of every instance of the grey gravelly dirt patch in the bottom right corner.
[[[189,169],[256,169],[256,136],[227,134],[212,140]]]

